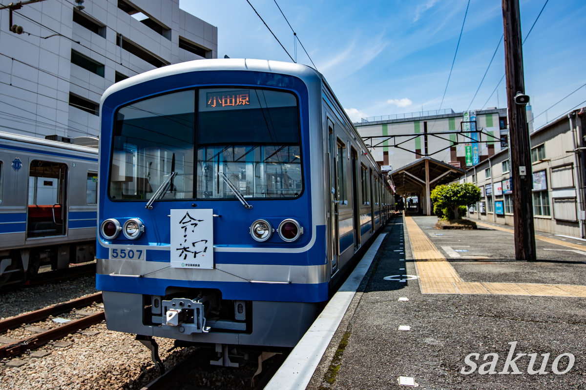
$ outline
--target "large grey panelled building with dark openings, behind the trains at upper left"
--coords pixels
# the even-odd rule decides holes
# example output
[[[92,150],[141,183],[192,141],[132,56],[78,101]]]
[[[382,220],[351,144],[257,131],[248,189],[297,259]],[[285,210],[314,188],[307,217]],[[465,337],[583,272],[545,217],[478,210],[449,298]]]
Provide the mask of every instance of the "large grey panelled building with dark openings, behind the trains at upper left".
[[[201,58],[217,58],[217,27],[179,9],[179,0],[49,0],[2,9],[0,130],[97,137],[106,88]]]

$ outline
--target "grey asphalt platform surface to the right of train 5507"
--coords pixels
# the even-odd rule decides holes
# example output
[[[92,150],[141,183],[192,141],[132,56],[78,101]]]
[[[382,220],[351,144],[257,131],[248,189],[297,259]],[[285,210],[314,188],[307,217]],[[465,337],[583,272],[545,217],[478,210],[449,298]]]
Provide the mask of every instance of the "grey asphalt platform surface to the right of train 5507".
[[[469,289],[458,288],[452,294],[422,294],[427,271],[421,272],[421,281],[401,279],[417,275],[414,259],[421,259],[422,246],[415,243],[416,253],[411,250],[405,220],[396,218],[386,227],[362,294],[350,305],[308,389],[394,388],[401,376],[413,378],[422,389],[586,389],[586,298],[527,295],[558,294],[557,288],[547,287],[554,284],[586,285],[586,246],[582,253],[575,246],[581,241],[567,239],[571,246],[563,246],[553,243],[564,244],[560,237],[537,240],[539,261],[521,263],[513,258],[511,233],[437,230],[436,220],[412,219],[431,241],[426,243],[428,253],[435,250],[438,257],[434,262],[418,260],[417,268],[445,263],[452,270],[447,277],[456,283],[459,278],[465,286],[515,284],[524,286],[525,295],[489,294],[485,288],[483,294],[462,294]],[[384,279],[393,275],[400,275],[391,278],[399,281]],[[400,302],[401,297],[409,300]],[[504,367],[515,342],[512,358],[536,354],[515,361],[519,374]],[[469,354],[478,354],[470,361],[479,368],[466,375],[461,371],[472,371],[465,364]],[[541,370],[547,374],[528,374],[530,368],[540,371],[542,354],[549,354]],[[560,354],[573,354],[574,365],[557,375],[552,363]],[[533,367],[528,367],[533,357]],[[554,368],[563,372],[569,360],[568,355],[561,357]],[[494,374],[481,375],[480,370]]]

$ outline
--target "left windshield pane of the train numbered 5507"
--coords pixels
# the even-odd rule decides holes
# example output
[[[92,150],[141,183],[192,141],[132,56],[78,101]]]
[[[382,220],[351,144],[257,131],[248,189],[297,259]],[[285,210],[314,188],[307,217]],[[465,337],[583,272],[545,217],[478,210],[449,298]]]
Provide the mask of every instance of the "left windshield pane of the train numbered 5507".
[[[122,107],[114,126],[110,197],[150,199],[175,172],[162,199],[193,198],[195,91]]]

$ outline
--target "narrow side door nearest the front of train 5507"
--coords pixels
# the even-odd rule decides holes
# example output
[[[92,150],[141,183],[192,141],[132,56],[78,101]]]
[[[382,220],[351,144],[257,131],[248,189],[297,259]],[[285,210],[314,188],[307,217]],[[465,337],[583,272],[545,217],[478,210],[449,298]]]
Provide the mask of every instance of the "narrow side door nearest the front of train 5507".
[[[330,244],[328,252],[331,259],[331,273],[338,270],[338,183],[336,157],[338,155],[338,144],[336,143],[335,134],[333,133],[333,123],[328,119],[328,172],[329,172],[329,237]]]

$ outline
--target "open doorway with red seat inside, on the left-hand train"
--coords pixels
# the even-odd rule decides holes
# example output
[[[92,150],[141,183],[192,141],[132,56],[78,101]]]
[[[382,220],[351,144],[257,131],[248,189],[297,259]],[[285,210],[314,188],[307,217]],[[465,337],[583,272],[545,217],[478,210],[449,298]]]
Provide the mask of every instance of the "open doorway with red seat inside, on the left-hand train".
[[[67,233],[67,164],[33,160],[29,170],[26,237]]]

